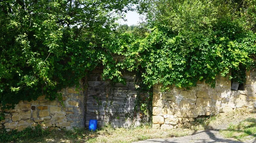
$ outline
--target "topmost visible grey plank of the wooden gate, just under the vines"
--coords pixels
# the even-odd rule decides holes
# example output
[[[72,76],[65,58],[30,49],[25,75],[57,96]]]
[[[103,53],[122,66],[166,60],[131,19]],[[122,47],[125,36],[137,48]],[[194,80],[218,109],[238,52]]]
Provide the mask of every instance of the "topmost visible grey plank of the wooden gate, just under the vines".
[[[88,81],[88,87],[134,87],[134,82],[126,82],[126,84],[122,83],[113,83],[110,81]]]

